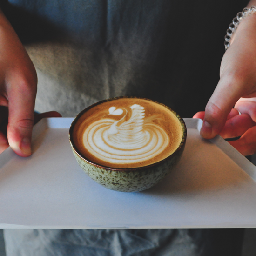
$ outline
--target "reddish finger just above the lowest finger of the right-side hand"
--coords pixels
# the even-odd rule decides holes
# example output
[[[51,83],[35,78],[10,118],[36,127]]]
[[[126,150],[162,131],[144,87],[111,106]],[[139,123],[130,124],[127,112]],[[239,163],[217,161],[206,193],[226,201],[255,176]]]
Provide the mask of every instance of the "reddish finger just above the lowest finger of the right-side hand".
[[[248,114],[236,115],[226,121],[220,135],[223,138],[235,138],[242,136],[249,128],[255,126]]]

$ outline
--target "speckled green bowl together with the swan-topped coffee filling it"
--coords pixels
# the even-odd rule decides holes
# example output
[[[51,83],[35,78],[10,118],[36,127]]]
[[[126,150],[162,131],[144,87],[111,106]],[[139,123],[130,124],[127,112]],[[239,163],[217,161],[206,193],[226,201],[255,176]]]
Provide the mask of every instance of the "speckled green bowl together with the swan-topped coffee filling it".
[[[186,141],[182,118],[143,98],[118,97],[84,109],[69,141],[81,168],[94,181],[123,192],[148,189],[179,161]]]

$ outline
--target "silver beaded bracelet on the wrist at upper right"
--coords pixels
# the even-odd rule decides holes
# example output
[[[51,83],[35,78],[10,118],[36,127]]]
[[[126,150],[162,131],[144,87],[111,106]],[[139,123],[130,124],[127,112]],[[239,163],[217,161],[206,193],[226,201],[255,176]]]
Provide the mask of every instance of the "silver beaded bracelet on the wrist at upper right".
[[[225,35],[225,51],[230,46],[231,36],[235,33],[236,28],[238,27],[241,20],[243,20],[246,16],[251,15],[252,13],[256,12],[256,7],[252,6],[250,8],[244,8],[243,12],[237,13],[236,17],[233,19],[232,23],[229,24],[229,28],[227,30],[227,34]]]

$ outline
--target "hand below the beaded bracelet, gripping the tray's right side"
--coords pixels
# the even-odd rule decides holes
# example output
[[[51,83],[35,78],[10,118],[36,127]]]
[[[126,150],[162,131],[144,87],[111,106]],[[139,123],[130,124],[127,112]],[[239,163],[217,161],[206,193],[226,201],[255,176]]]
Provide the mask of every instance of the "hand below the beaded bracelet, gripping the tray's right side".
[[[256,153],[256,14],[237,27],[231,45],[222,58],[220,81],[209,99],[203,119],[202,137],[211,139],[241,136],[230,141],[243,155]],[[235,106],[238,111],[232,108]]]

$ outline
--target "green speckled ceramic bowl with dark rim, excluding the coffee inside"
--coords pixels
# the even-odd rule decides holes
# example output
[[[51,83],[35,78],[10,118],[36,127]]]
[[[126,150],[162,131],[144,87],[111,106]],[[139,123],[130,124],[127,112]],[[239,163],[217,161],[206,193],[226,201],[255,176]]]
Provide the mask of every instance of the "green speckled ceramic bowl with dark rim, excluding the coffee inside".
[[[104,101],[109,100],[114,99],[108,99]],[[155,184],[160,182],[166,175],[168,175],[171,172],[171,170],[175,167],[175,165],[180,161],[187,137],[187,129],[183,119],[175,111],[165,106],[176,115],[183,128],[183,136],[180,146],[175,150],[175,152],[172,155],[169,155],[167,158],[160,162],[148,166],[138,168],[109,168],[94,163],[87,159],[86,157],[84,157],[75,147],[72,138],[74,125],[76,121],[80,118],[80,116],[89,108],[92,108],[96,104],[102,103],[104,101],[97,102],[92,106],[81,111],[81,113],[79,113],[75,117],[74,121],[70,126],[69,142],[71,144],[71,148],[77,162],[90,178],[92,178],[95,182],[101,184],[107,189],[112,189],[121,192],[138,192],[153,187]]]

